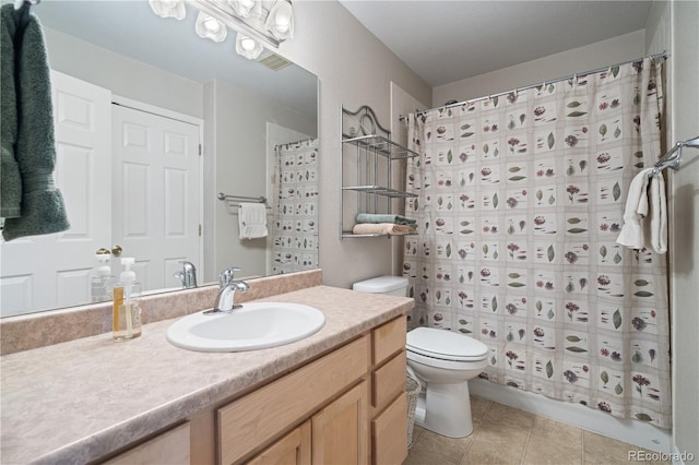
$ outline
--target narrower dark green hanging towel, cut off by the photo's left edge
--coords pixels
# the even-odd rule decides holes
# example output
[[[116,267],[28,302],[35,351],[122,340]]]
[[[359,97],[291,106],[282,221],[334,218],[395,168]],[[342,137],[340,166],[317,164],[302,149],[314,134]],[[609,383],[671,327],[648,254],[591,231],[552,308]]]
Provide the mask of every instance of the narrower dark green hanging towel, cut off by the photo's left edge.
[[[22,177],[20,166],[14,158],[14,145],[17,142],[17,99],[14,82],[14,43],[16,23],[14,5],[2,5],[0,11],[0,145],[2,147],[0,165],[0,216],[16,218],[21,215]]]

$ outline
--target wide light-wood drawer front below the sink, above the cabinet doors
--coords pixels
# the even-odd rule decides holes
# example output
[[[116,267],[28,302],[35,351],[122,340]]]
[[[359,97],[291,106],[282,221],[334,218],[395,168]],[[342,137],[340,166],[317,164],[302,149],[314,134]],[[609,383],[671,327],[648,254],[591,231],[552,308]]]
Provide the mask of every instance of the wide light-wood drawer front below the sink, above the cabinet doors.
[[[369,336],[356,339],[217,410],[218,457],[234,463],[367,372]]]

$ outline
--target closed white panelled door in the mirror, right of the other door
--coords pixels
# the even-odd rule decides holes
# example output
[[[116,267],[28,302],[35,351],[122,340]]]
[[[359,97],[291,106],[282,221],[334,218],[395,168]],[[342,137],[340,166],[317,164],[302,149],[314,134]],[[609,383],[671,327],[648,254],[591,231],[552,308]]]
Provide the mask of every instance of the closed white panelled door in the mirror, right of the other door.
[[[112,242],[143,290],[181,287],[181,261],[201,270],[199,127],[114,105],[112,136]]]

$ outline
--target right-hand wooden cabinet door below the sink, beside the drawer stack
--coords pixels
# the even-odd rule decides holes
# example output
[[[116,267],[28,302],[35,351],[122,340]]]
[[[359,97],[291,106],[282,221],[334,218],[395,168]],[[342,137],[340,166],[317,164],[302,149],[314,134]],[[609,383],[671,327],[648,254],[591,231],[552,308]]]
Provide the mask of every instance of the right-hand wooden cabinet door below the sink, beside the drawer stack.
[[[312,463],[369,462],[367,382],[362,381],[312,418]]]

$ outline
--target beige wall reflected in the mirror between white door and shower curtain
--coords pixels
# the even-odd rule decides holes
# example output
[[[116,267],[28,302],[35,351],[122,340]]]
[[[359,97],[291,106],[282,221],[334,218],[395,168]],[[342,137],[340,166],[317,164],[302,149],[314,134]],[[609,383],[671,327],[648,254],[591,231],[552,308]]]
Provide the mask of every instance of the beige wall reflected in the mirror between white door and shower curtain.
[[[239,239],[236,212],[216,194],[266,195],[266,123],[316,134],[317,120],[223,81],[205,84],[204,95],[204,218],[213,220],[206,225],[213,237],[204,241],[203,282],[217,281],[228,266],[242,269],[242,276],[264,275],[268,239]]]

